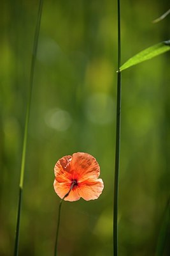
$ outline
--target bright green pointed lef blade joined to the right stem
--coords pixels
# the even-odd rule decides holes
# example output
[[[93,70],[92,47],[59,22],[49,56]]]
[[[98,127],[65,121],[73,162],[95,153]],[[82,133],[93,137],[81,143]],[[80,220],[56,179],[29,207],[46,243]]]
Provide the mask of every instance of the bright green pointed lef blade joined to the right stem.
[[[127,60],[121,67],[120,71],[129,68],[131,66],[134,66],[138,63],[141,63],[145,60],[150,60],[153,57],[162,54],[164,52],[167,52],[170,50],[170,40],[161,42],[159,44],[155,44],[144,51],[139,52],[138,54],[134,55],[132,58]]]

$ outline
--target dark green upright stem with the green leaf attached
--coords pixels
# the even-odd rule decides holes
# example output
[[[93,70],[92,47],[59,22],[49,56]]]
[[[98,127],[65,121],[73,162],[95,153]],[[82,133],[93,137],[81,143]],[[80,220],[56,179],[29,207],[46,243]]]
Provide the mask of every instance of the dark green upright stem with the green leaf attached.
[[[118,70],[117,70],[117,130],[115,150],[115,187],[113,205],[113,253],[118,255],[118,175],[120,166],[120,120],[121,120],[121,40],[120,40],[120,0],[118,4]]]

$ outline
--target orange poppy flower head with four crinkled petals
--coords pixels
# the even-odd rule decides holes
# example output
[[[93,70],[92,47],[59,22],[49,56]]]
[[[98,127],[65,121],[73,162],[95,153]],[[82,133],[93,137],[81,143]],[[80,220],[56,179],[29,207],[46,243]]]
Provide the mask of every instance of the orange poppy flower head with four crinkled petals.
[[[76,201],[97,199],[101,195],[104,184],[100,175],[100,167],[96,159],[87,153],[74,153],[64,156],[54,167],[55,180],[53,187],[60,198]]]

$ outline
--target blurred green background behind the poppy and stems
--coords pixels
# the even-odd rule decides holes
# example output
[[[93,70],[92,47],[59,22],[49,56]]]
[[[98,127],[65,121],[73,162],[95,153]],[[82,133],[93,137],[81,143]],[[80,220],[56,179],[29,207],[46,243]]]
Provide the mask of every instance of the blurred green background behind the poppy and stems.
[[[169,39],[167,0],[122,1],[122,63]],[[25,109],[38,0],[1,0],[0,255],[13,255]],[[169,52],[122,73],[120,256],[170,255]],[[32,92],[19,255],[53,255],[59,197],[53,166],[88,152],[98,200],[64,202],[60,256],[113,255],[117,1],[45,0]],[[162,249],[163,248],[163,249]]]

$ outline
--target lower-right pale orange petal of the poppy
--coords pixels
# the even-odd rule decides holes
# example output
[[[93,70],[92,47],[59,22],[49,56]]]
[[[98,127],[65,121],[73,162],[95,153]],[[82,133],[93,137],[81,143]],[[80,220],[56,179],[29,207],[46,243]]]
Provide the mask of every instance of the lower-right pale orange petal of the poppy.
[[[89,182],[81,182],[78,186],[78,194],[85,200],[94,200],[97,199],[104,188],[103,180],[91,180]]]

